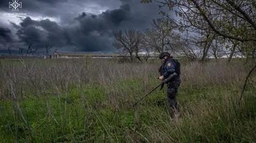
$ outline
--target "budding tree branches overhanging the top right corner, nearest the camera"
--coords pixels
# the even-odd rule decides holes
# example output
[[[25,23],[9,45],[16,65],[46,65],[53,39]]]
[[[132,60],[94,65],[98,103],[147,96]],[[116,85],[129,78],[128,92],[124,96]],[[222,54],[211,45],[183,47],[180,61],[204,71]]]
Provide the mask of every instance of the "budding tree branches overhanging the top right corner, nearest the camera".
[[[252,58],[254,47],[252,43],[256,42],[256,4],[255,1],[232,1],[232,0],[165,0],[157,1],[159,7],[168,6],[170,10],[174,10],[180,20],[172,18],[176,24],[182,25],[180,30],[202,30],[207,24],[212,32],[224,39],[232,39],[242,42],[240,50],[246,58]],[[152,0],[142,0],[141,2],[152,2]],[[162,12],[163,13],[163,12]],[[201,21],[198,21],[201,19]],[[234,49],[234,48],[233,48]],[[254,61],[254,59],[252,60]],[[252,65],[244,82],[253,73],[256,64]],[[243,92],[241,93],[241,97]],[[241,98],[240,98],[241,99]]]

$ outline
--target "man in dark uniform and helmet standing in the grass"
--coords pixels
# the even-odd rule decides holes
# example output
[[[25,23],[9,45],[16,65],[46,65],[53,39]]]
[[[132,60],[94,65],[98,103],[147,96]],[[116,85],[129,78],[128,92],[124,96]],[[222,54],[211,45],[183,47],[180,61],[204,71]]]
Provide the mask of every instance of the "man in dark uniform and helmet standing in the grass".
[[[160,67],[160,79],[163,81],[163,79],[168,78],[169,75],[172,73],[176,72],[177,73],[177,68],[176,68],[176,62],[172,58],[172,56],[168,52],[163,52],[159,55],[159,59],[162,59],[163,64]],[[178,75],[172,79],[172,81],[168,82],[167,84],[167,99],[169,102],[169,106],[172,108],[173,116],[174,118],[178,118],[179,116],[179,106],[178,106],[178,101],[177,101],[177,91],[180,86],[180,73],[177,73]]]

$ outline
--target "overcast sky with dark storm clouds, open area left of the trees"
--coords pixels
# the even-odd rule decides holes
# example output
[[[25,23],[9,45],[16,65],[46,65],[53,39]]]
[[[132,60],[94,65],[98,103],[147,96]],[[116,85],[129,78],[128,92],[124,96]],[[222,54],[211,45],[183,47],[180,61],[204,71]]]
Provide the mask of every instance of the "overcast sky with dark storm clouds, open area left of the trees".
[[[162,17],[157,3],[140,0],[19,0],[18,10],[9,8],[13,1],[0,0],[0,53],[9,53],[8,47],[13,54],[19,48],[26,53],[30,43],[46,53],[48,40],[58,52],[74,52],[77,47],[76,52],[112,53],[113,32],[143,31],[151,28],[152,19]]]

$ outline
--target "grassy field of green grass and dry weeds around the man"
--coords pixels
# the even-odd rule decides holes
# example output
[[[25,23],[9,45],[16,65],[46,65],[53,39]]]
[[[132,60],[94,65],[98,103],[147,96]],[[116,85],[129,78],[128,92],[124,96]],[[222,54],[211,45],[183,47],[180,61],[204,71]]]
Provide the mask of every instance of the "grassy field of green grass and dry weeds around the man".
[[[255,71],[242,62],[182,62],[171,118],[160,61],[0,61],[0,142],[256,142]]]

